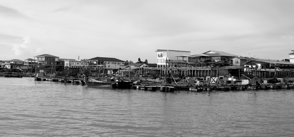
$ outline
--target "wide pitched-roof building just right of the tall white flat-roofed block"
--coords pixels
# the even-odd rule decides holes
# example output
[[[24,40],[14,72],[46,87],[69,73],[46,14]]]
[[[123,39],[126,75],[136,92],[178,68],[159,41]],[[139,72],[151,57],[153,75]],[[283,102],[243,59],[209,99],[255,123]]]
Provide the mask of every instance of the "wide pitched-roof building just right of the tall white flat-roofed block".
[[[237,55],[229,54],[223,51],[207,51],[202,54],[196,54],[191,56],[194,56],[194,58],[196,58],[195,62],[213,61],[213,62],[228,63],[230,62],[229,60],[230,58]]]

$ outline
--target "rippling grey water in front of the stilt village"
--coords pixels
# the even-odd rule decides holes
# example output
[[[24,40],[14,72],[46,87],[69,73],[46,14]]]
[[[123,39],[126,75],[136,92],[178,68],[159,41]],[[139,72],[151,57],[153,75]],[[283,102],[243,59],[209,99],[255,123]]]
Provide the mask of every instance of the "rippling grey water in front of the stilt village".
[[[0,136],[294,136],[293,90],[164,93],[0,77]]]

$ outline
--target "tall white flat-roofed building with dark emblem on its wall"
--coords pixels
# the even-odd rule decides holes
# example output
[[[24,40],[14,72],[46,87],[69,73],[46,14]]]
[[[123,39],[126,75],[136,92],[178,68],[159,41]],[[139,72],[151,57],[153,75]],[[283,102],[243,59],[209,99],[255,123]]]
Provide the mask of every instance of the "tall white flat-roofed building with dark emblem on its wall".
[[[183,58],[182,61],[188,62],[191,51],[176,51],[176,50],[163,50],[157,49],[157,67],[171,66],[168,61],[178,60],[179,57]]]

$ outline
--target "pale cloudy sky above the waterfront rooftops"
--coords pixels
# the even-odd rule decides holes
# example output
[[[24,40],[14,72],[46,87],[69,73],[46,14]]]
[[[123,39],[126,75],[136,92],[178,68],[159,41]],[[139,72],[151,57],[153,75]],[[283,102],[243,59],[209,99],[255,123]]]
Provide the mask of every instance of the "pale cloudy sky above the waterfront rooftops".
[[[156,63],[157,49],[289,59],[293,0],[0,0],[0,60]]]

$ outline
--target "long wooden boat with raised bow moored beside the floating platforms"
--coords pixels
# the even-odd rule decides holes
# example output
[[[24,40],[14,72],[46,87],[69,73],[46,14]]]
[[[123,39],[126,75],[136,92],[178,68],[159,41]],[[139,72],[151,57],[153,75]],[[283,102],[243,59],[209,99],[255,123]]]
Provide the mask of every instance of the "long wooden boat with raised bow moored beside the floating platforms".
[[[131,88],[133,84],[129,81],[98,81],[91,77],[84,77],[84,81],[87,86],[98,88]]]

